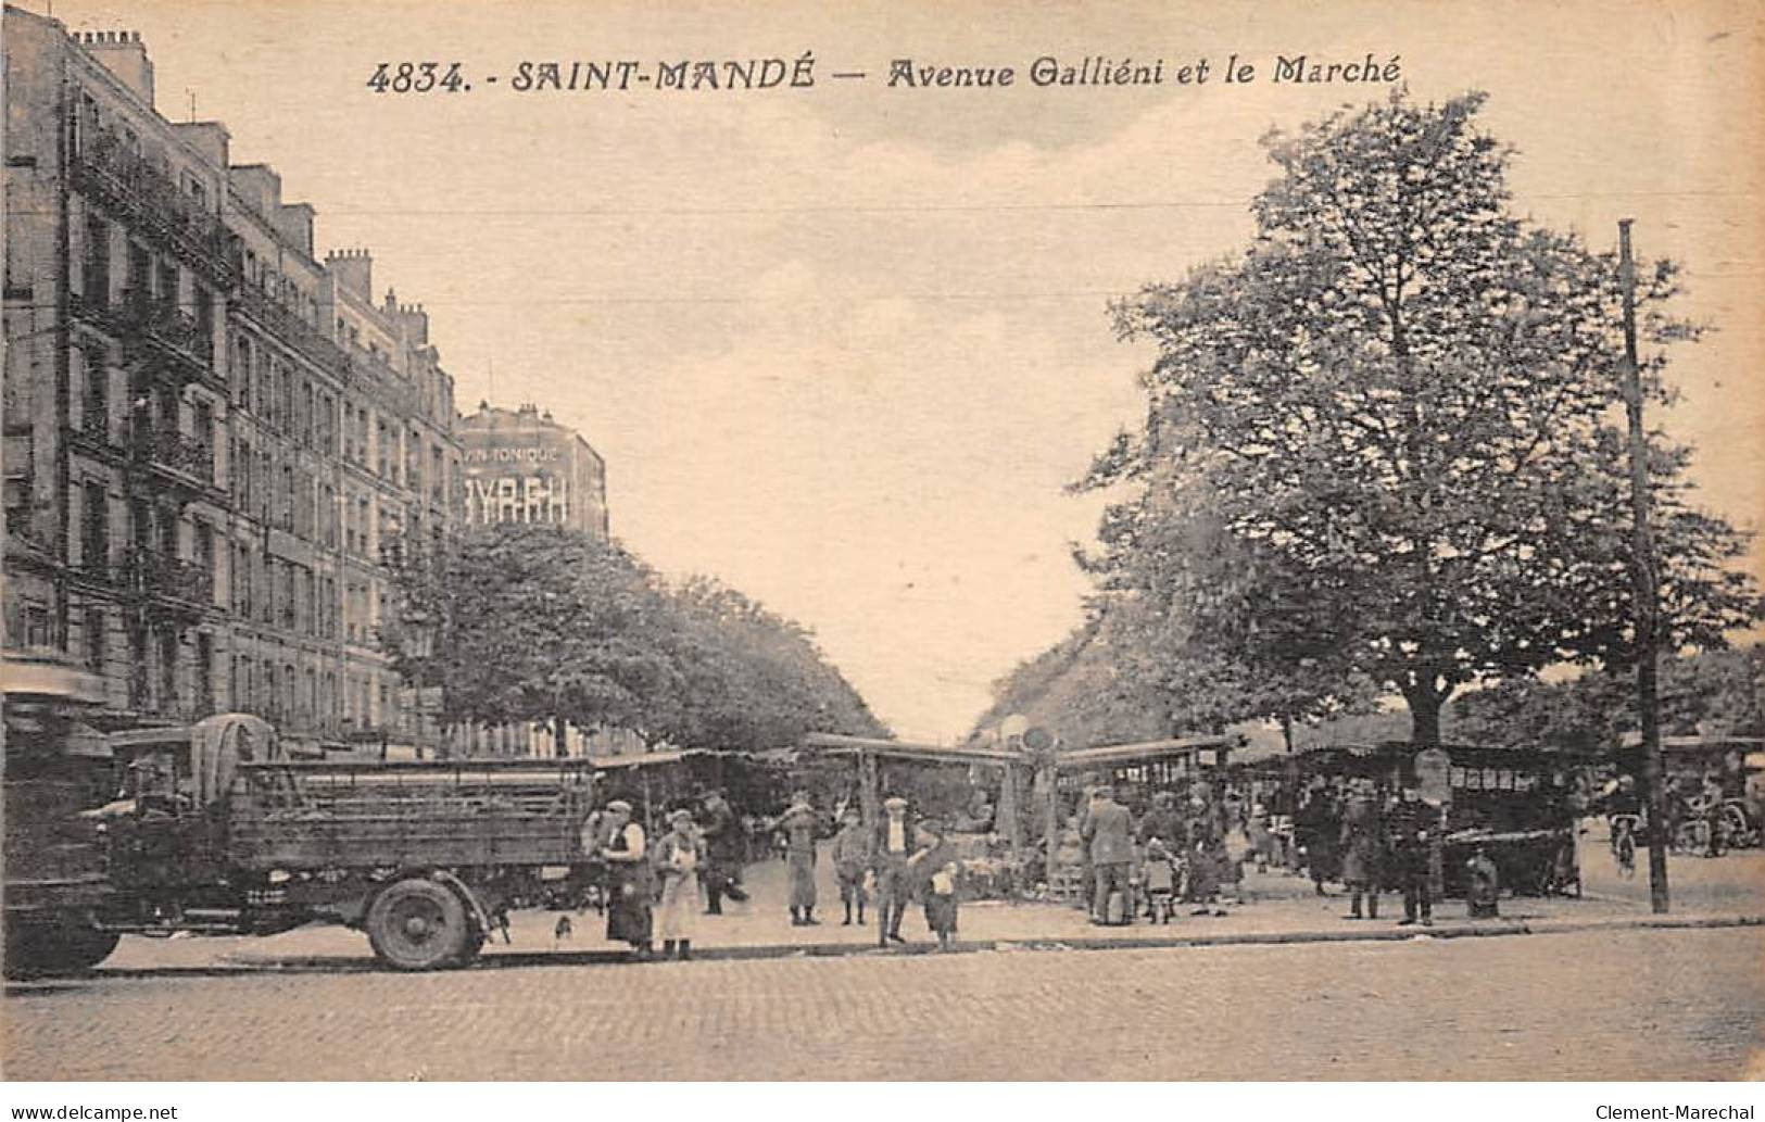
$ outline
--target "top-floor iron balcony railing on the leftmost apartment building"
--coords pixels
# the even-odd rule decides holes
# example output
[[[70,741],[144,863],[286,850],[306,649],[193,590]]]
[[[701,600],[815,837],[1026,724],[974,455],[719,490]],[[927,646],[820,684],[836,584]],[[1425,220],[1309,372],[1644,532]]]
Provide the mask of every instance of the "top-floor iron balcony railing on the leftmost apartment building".
[[[198,205],[157,164],[111,134],[88,138],[72,157],[74,185],[136,221],[146,233],[205,268],[221,284],[233,282],[228,231],[219,215]]]

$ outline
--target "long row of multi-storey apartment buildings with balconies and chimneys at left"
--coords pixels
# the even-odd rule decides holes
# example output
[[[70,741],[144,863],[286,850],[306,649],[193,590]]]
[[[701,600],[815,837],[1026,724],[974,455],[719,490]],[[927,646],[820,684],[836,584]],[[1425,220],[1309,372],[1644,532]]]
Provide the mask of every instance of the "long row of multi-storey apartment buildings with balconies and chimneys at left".
[[[441,744],[378,644],[387,561],[445,535],[461,450],[422,307],[154,108],[129,32],[5,9],[5,644],[115,722]]]

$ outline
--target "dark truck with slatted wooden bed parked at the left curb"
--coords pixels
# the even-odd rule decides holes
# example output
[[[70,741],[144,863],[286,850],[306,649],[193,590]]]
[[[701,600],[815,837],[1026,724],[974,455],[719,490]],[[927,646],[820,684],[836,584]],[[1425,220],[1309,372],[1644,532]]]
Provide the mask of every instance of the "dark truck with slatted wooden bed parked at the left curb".
[[[97,965],[125,933],[311,921],[427,970],[471,961],[512,907],[574,898],[590,760],[297,760],[254,716],[104,736],[11,700],[9,976]]]

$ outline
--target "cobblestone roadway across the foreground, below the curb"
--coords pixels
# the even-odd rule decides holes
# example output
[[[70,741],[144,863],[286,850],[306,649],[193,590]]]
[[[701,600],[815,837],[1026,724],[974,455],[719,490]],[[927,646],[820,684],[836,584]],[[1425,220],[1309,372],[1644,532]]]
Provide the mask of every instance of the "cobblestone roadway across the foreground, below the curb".
[[[1765,931],[11,986],[12,1080],[1710,1080]]]

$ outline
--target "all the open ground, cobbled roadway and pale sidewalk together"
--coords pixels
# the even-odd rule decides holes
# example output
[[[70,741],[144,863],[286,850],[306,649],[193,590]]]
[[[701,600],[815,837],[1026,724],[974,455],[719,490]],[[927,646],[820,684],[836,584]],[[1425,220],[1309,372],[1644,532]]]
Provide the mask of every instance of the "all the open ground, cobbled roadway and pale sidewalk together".
[[[1647,875],[1583,845],[1583,900],[1447,901],[1438,926],[1341,917],[1340,894],[1250,873],[1225,917],[1093,928],[1057,903],[969,903],[962,953],[792,928],[784,866],[702,919],[697,961],[625,963],[593,914],[554,916],[473,969],[395,974],[367,942],[125,939],[81,979],[11,984],[12,1080],[1359,1080],[1765,1078],[1765,852],[1675,857],[1675,923]],[[1712,930],[1700,930],[1710,926]],[[1514,939],[1468,939],[1534,931]],[[1456,935],[1456,937],[1454,937]],[[1340,942],[1350,939],[1350,942]],[[1375,942],[1373,939],[1380,939]],[[1149,947],[1135,942],[1163,940]],[[1227,946],[1181,946],[1216,942]],[[1232,946],[1241,940],[1244,946]],[[1107,953],[1103,953],[1107,949]]]

